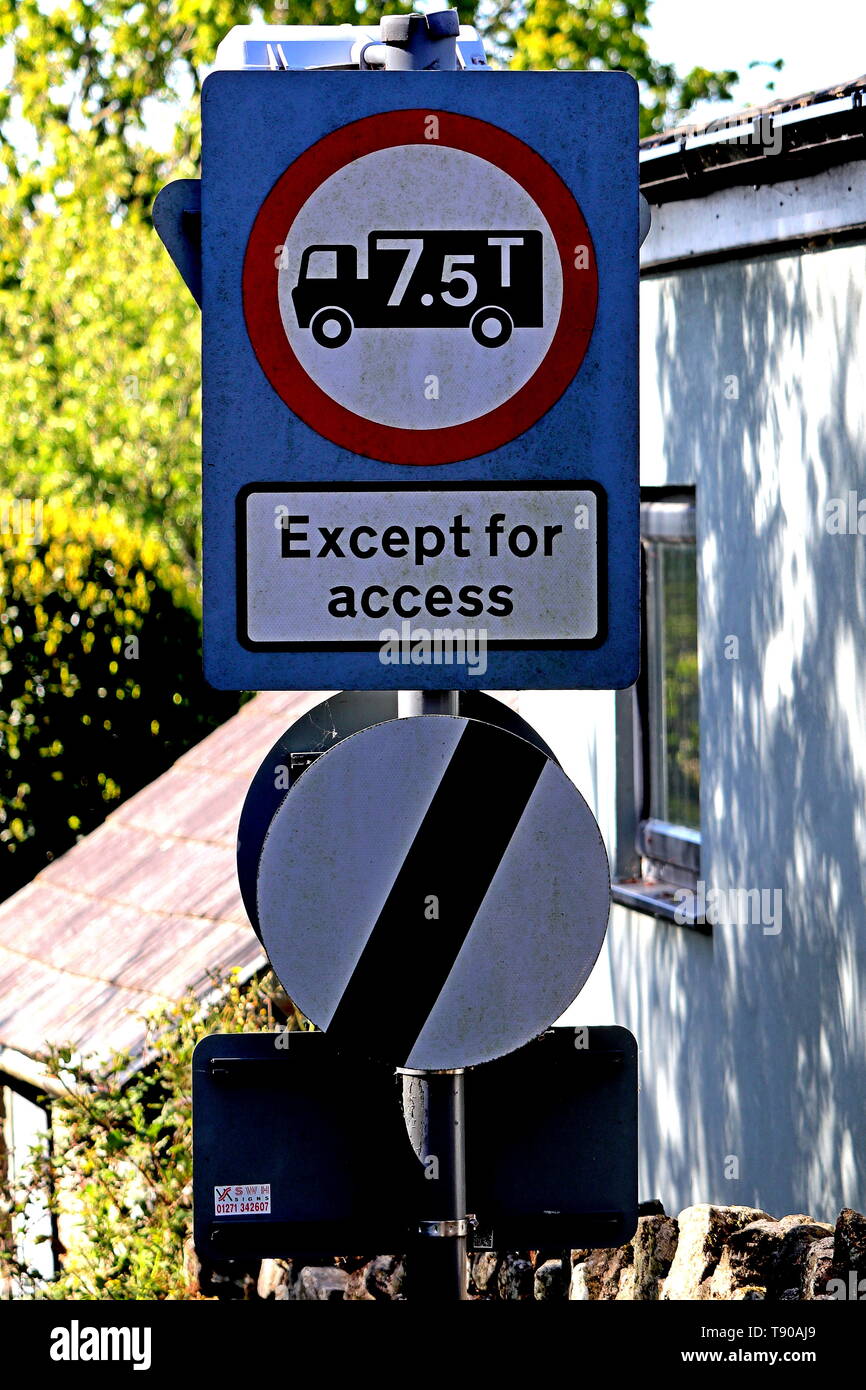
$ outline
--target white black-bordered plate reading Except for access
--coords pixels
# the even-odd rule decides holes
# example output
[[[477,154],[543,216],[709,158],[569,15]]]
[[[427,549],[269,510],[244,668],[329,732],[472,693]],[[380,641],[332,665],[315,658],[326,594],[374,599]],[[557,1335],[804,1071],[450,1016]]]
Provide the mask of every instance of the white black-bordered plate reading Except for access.
[[[605,637],[605,495],[532,488],[256,484],[239,498],[240,638],[378,646],[403,624],[471,624],[487,646]]]

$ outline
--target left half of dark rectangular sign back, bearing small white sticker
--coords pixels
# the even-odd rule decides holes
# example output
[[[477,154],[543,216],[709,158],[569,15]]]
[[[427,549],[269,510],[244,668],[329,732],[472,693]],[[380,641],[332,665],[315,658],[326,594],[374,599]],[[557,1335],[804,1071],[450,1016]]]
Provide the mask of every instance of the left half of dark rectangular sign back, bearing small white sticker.
[[[211,1034],[192,1095],[199,1254],[403,1248],[417,1159],[388,1068],[338,1058],[321,1033]],[[267,1212],[217,1213],[227,1188],[263,1186]]]

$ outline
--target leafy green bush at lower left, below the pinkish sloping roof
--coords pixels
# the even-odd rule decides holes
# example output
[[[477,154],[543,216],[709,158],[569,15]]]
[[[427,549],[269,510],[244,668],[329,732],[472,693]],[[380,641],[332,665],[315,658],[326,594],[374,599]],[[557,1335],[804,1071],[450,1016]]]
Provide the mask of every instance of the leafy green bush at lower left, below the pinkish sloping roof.
[[[47,1209],[58,1219],[61,1269],[54,1280],[10,1251],[0,1275],[43,1298],[190,1298],[183,1245],[192,1234],[192,1095],[196,1042],[207,1033],[261,1033],[304,1026],[272,976],[240,988],[236,972],[214,980],[203,1009],[188,994],[147,1022],[147,1065],[103,1065],[50,1048],[42,1061],[65,1094],[51,1101],[51,1144],[36,1151],[11,1188],[0,1184],[7,1223]],[[8,1237],[7,1237],[8,1243]]]

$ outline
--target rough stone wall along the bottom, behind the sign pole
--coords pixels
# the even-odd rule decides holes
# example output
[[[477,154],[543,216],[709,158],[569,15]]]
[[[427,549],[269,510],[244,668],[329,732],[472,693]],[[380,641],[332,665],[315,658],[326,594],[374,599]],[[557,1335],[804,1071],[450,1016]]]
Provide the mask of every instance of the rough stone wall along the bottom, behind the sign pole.
[[[834,1226],[753,1207],[659,1202],[614,1250],[482,1251],[470,1259],[468,1293],[489,1300],[866,1301],[866,1216],[844,1208]],[[256,1270],[204,1269],[189,1251],[193,1287],[209,1298],[400,1301],[398,1255],[336,1258],[329,1265],[264,1259]]]

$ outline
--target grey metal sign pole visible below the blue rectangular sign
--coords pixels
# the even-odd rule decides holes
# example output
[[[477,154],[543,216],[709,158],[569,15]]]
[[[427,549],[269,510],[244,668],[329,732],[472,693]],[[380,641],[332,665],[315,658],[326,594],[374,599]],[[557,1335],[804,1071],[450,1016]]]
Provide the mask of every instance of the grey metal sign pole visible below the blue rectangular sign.
[[[457,691],[398,691],[400,719],[459,713]],[[463,1068],[402,1076],[406,1129],[430,1184],[409,1257],[410,1297],[460,1302],[467,1297]]]

